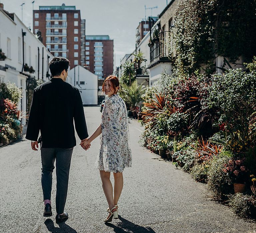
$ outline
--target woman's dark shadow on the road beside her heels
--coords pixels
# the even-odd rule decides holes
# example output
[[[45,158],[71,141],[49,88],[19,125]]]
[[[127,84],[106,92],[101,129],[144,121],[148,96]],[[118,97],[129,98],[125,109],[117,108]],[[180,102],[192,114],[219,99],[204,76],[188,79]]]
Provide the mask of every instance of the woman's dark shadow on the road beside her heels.
[[[114,232],[116,233],[155,233],[155,231],[151,227],[142,227],[122,218],[120,215],[118,215],[118,217],[121,222],[118,222],[117,225],[114,225],[112,223],[105,223],[106,226],[112,227]]]

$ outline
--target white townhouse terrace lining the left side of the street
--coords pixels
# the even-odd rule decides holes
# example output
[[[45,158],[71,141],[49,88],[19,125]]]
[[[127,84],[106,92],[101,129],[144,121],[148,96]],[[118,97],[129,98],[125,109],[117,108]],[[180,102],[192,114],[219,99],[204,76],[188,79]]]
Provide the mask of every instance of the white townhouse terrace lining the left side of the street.
[[[6,56],[5,59],[0,57],[0,82],[15,83],[22,89],[18,109],[26,112],[27,77],[30,75],[36,79],[49,80],[48,61],[53,55],[15,13],[3,9],[3,4],[0,4],[0,49]],[[24,69],[25,64],[27,66]],[[28,67],[33,67],[34,72],[29,73]],[[22,124],[25,124],[25,119]]]

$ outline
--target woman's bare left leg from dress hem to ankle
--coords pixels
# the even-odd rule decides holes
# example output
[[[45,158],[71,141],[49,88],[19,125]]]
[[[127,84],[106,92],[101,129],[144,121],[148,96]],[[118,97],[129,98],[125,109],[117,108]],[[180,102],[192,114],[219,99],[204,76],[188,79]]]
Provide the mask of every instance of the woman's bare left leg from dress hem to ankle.
[[[114,199],[113,199],[113,186],[110,181],[110,172],[100,170],[100,178],[102,181],[102,188],[106,196],[109,209],[111,210],[114,207]]]

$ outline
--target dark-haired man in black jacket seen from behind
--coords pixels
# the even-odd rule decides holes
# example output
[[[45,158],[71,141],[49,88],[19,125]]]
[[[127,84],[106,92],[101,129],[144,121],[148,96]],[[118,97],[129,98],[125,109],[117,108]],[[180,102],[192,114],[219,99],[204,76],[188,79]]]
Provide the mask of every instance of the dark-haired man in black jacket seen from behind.
[[[44,216],[52,216],[52,172],[56,159],[56,222],[68,219],[64,212],[67,198],[71,155],[76,145],[75,130],[83,141],[88,137],[82,99],[76,87],[66,83],[69,60],[54,57],[49,62],[52,79],[35,88],[28,119],[26,138],[37,150],[41,143],[41,182]],[[41,136],[38,138],[39,131]],[[89,147],[88,147],[89,148]]]

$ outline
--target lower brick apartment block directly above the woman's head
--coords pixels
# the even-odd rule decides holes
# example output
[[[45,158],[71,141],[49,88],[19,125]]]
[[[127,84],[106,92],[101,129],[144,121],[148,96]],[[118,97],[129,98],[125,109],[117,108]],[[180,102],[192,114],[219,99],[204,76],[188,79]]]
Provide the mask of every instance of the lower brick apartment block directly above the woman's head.
[[[101,89],[104,79],[113,74],[114,42],[108,35],[86,35],[85,68],[98,76]]]

